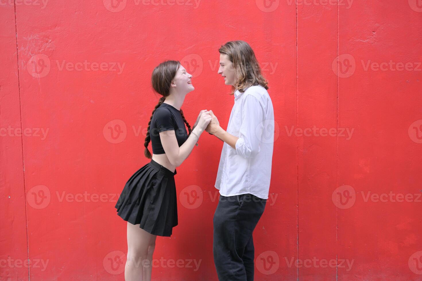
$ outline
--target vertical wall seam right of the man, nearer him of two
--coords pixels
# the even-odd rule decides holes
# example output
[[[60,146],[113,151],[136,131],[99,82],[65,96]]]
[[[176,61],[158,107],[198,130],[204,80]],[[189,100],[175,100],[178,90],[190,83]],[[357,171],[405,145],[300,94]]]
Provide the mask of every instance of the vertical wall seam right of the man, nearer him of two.
[[[296,8],[296,127],[299,127],[299,81],[298,81],[298,68],[299,68],[299,54],[298,54],[298,5],[295,2]],[[299,259],[299,139],[296,136],[296,255]],[[297,267],[297,279],[299,281],[299,267]]]

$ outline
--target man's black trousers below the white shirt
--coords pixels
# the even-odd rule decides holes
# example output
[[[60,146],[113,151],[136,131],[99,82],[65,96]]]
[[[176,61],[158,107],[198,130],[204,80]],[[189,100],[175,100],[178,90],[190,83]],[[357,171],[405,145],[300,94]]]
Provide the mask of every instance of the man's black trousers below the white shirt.
[[[213,219],[214,264],[220,281],[254,280],[252,232],[266,202],[249,193],[220,195]]]

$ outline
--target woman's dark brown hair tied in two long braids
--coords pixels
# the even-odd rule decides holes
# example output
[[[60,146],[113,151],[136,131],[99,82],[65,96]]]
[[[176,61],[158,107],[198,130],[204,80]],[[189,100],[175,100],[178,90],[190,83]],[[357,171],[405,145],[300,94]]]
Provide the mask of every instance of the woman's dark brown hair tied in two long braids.
[[[146,158],[152,158],[152,155],[148,150],[148,144],[151,141],[151,137],[149,136],[149,126],[151,125],[152,116],[154,115],[155,110],[157,110],[157,108],[160,107],[160,105],[165,101],[165,98],[169,96],[171,80],[173,80],[174,76],[176,76],[176,72],[179,70],[179,67],[179,61],[166,61],[160,63],[157,67],[154,68],[154,71],[152,72],[152,88],[157,94],[162,95],[162,97],[159,99],[158,104],[155,106],[154,110],[152,110],[151,118],[149,118],[148,129],[146,130],[146,138],[144,143],[145,150],[143,152]],[[186,124],[190,134],[192,129],[184,118],[183,110],[181,109],[180,114],[182,115],[183,121]]]

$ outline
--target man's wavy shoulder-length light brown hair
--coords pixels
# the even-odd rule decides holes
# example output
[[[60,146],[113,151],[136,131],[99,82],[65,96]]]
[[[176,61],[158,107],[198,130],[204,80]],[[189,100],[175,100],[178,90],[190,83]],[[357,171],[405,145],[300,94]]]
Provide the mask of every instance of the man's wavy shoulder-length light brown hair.
[[[235,83],[232,87],[232,93],[239,90],[242,93],[247,88],[254,85],[260,85],[268,90],[268,82],[261,73],[261,67],[258,64],[254,51],[245,41],[229,41],[222,45],[220,54],[226,54],[230,62],[233,63],[235,70]]]

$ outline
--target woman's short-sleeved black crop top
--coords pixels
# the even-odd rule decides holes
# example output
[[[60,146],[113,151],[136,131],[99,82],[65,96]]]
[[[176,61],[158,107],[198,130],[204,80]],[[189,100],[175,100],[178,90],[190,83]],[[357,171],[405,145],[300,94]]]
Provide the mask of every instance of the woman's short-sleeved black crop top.
[[[161,145],[160,132],[174,130],[179,147],[186,142],[188,135],[180,110],[170,104],[162,103],[152,115],[149,125],[149,136],[151,137],[152,153],[164,154]]]

